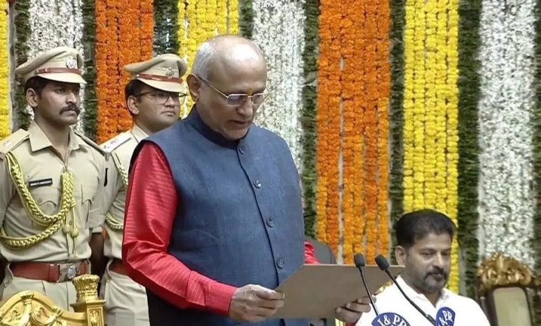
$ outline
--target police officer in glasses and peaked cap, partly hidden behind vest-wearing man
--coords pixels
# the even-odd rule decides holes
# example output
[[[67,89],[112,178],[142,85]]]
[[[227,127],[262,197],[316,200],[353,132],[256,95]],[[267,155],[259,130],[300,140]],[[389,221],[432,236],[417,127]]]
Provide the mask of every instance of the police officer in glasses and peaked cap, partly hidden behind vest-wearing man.
[[[146,291],[127,276],[121,260],[128,168],[141,139],[178,121],[180,104],[187,96],[180,78],[187,66],[177,55],[164,54],[127,65],[124,69],[131,74],[130,83],[126,85],[126,104],[134,126],[101,145],[110,153],[108,184],[99,195],[105,203],[102,212],[105,221],[104,253],[109,259],[101,295],[105,298],[108,326],[146,326]]]

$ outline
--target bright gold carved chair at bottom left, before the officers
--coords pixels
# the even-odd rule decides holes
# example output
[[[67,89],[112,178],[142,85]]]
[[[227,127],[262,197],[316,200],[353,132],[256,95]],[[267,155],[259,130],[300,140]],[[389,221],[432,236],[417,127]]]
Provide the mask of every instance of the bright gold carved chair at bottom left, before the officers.
[[[98,280],[89,274],[74,277],[74,312],[60,309],[42,293],[19,292],[1,303],[0,326],[103,326],[105,301],[98,299]]]

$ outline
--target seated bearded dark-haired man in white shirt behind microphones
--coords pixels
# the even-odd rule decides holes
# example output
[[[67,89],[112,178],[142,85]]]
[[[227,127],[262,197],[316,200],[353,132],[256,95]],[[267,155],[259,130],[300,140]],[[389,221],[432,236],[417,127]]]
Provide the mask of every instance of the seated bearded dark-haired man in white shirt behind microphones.
[[[404,293],[441,326],[490,326],[474,300],[444,289],[451,268],[455,225],[445,214],[424,209],[404,214],[395,225],[395,256],[405,269],[397,277]],[[376,295],[376,307],[357,326],[433,325],[393,284]]]

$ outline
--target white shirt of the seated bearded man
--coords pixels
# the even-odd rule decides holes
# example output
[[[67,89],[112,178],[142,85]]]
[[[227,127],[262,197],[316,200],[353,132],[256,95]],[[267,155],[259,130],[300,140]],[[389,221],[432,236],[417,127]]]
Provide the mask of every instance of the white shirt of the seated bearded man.
[[[442,326],[490,326],[488,319],[479,304],[470,298],[457,295],[443,289],[436,307],[421,293],[417,293],[397,277],[404,293],[417,304],[422,311],[436,320],[436,325]],[[357,326],[429,326],[431,323],[420,314],[398,290],[396,285],[389,286],[376,295],[376,307],[379,317],[375,320],[373,309],[361,316]]]

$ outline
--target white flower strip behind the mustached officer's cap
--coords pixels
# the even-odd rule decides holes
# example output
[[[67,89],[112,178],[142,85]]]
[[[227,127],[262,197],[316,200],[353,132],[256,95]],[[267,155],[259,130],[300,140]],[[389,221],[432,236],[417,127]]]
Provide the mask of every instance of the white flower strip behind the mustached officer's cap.
[[[58,4],[56,4],[58,3]],[[82,0],[32,0],[28,9],[31,34],[28,37],[28,58],[33,58],[55,46],[69,46],[83,55],[83,1]],[[81,101],[84,89],[81,85]],[[30,107],[28,112],[33,114]],[[83,131],[81,111],[75,128]]]

